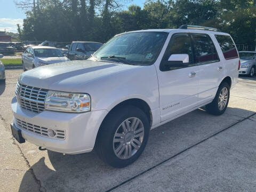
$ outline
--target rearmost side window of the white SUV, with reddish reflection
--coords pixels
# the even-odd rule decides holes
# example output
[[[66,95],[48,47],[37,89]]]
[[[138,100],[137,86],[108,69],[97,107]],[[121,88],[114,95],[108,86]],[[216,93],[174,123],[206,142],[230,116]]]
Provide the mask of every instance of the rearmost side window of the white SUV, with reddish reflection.
[[[225,59],[238,58],[236,46],[228,35],[215,35]]]

